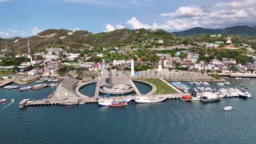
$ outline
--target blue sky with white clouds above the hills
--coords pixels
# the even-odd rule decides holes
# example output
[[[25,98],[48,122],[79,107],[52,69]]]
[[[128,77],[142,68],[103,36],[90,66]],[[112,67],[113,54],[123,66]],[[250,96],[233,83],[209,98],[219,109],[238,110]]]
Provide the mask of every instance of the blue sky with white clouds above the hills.
[[[92,33],[121,28],[183,31],[256,26],[255,0],[0,0],[0,37],[49,28]],[[124,27],[122,25],[124,16]]]

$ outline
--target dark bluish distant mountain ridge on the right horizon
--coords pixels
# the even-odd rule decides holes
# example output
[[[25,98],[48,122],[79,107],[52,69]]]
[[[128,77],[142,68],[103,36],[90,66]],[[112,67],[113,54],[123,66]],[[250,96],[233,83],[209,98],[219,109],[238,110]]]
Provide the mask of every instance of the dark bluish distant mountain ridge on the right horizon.
[[[173,32],[176,36],[182,36],[182,37],[188,37],[191,35],[197,35],[197,34],[214,34],[214,33],[220,33],[220,34],[234,34],[234,35],[256,35],[256,26],[249,27],[249,26],[235,26],[235,27],[228,27],[225,29],[205,29],[200,27],[191,28],[182,32]]]

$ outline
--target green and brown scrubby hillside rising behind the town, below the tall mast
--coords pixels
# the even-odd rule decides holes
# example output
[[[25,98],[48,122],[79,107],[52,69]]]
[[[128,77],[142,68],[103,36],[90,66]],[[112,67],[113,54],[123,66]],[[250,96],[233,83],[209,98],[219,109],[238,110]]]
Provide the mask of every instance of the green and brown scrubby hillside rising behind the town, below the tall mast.
[[[27,51],[27,40],[30,41],[32,52],[42,52],[47,47],[109,47],[130,46],[137,47],[142,41],[163,39],[165,45],[173,44],[177,37],[163,30],[150,29],[117,29],[112,32],[92,34],[88,31],[69,31],[67,29],[47,29],[38,35],[28,38],[10,38],[0,40],[0,49],[11,49],[16,52]]]

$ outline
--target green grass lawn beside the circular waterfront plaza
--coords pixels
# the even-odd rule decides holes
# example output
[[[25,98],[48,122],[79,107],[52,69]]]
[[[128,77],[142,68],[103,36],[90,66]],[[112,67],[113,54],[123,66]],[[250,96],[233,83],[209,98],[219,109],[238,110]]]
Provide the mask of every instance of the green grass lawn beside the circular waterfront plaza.
[[[155,94],[159,94],[159,92],[161,92],[161,94],[177,93],[173,88],[166,85],[166,83],[164,83],[160,79],[139,79],[139,80],[147,81],[155,85],[157,88]]]

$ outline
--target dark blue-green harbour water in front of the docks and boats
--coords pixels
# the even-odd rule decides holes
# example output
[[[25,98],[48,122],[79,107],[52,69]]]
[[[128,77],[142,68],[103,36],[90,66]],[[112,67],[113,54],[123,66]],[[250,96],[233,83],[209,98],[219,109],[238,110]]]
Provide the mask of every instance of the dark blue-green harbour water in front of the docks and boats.
[[[253,98],[214,103],[166,100],[118,108],[85,104],[20,110],[22,99],[46,98],[55,88],[0,88],[0,99],[9,100],[0,104],[0,143],[256,143],[256,88],[251,82],[230,80],[231,87],[249,87]],[[15,103],[7,106],[12,98]],[[223,111],[229,105],[234,110]]]

